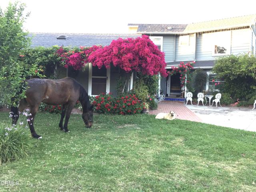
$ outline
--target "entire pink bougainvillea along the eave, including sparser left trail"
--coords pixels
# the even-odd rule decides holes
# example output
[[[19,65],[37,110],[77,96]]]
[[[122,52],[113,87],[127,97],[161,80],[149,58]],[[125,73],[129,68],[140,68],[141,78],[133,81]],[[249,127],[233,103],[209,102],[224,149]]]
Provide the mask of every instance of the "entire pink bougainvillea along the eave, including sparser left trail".
[[[135,70],[151,76],[160,72],[162,76],[167,76],[164,53],[146,35],[138,38],[119,38],[105,47],[80,47],[77,52],[64,52],[60,47],[56,54],[60,56],[64,67],[72,66],[75,70],[90,62],[99,69],[103,66],[110,68],[113,64],[126,72]]]

